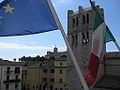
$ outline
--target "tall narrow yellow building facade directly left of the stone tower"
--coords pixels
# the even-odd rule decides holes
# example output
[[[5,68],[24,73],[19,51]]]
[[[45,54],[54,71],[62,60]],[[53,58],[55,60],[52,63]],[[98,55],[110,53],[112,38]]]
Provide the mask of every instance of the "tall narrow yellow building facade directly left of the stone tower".
[[[66,90],[67,86],[67,61],[66,57],[60,57],[54,61],[54,90]]]

